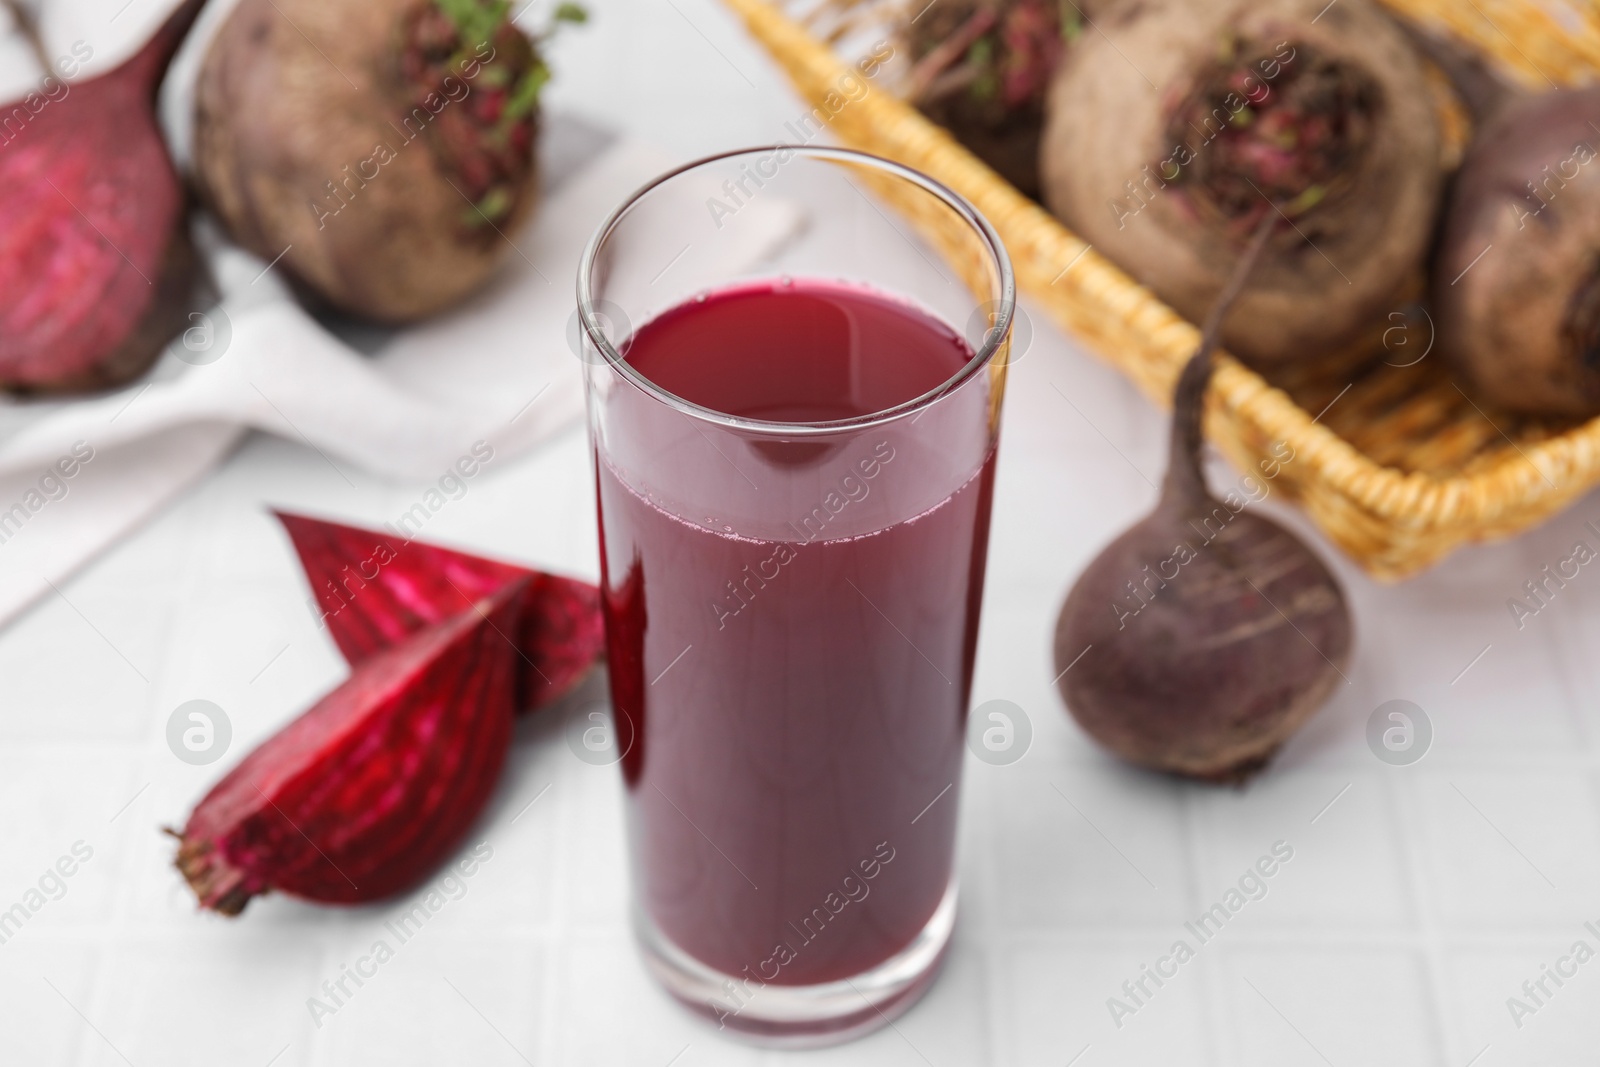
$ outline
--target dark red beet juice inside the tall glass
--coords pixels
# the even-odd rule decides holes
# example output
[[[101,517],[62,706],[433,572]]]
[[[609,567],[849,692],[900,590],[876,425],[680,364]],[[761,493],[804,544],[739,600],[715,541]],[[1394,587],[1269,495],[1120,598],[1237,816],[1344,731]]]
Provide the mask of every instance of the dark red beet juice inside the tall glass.
[[[622,354],[691,405],[789,424],[896,408],[974,358],[910,302],[805,278],[698,296]],[[704,424],[637,386],[600,402],[638,899],[715,971],[779,985],[861,974],[950,888],[989,392],[792,438]]]

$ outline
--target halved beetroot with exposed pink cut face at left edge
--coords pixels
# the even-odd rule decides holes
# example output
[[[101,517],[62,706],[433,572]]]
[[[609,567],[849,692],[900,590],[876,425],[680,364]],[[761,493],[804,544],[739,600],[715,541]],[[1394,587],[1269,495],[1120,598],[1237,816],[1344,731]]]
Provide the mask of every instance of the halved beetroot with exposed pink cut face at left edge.
[[[131,59],[46,101],[0,107],[0,389],[104,389],[184,326],[197,259],[155,93],[203,0]]]

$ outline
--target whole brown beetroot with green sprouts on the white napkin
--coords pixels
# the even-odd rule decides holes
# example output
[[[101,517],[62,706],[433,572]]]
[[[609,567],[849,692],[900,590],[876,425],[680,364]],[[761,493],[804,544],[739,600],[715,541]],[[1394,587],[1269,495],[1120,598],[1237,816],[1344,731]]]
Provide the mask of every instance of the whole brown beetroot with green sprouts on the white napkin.
[[[454,304],[510,253],[538,192],[549,69],[509,14],[504,0],[242,0],[195,86],[203,198],[341,310],[398,323]]]

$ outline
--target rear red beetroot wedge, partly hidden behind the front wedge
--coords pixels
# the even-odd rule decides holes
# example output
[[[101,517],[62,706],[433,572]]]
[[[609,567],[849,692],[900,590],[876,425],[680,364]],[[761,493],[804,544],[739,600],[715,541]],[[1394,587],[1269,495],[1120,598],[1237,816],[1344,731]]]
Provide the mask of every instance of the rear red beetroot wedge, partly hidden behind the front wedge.
[[[525,582],[515,635],[517,709],[566,696],[605,648],[600,590],[419,541],[275,512],[299,553],[320,619],[352,665],[448,619],[472,601]]]

